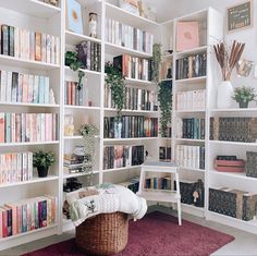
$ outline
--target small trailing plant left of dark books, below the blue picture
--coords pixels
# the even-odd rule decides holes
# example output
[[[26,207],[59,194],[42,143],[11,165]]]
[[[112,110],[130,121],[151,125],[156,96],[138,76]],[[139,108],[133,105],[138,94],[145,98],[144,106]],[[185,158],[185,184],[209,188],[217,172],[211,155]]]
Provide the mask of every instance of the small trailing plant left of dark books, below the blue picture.
[[[65,52],[65,65],[70,66],[70,69],[73,71],[77,71],[77,76],[78,76],[77,89],[82,89],[83,86],[82,78],[85,76],[85,73],[79,70],[83,68],[83,63],[82,61],[78,60],[78,53],[76,51]]]

